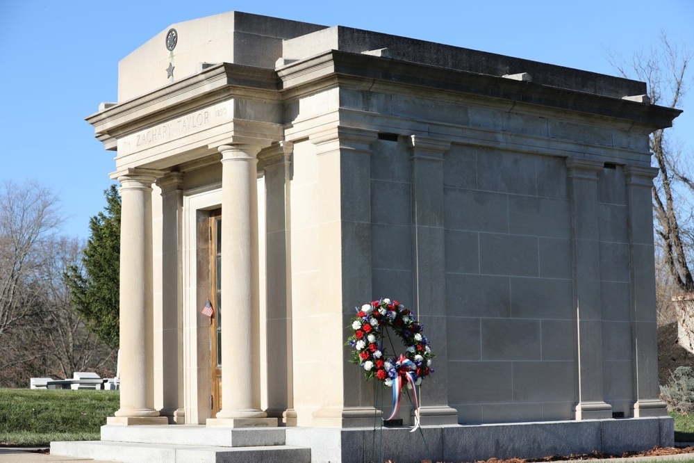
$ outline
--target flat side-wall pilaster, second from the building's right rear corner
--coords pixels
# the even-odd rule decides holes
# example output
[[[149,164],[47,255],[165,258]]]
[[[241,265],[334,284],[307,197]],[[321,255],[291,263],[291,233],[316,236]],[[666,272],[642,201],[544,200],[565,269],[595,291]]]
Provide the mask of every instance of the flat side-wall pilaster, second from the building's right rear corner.
[[[602,307],[600,302],[600,236],[597,227],[597,173],[604,163],[570,158],[571,232],[574,307],[578,340],[576,419],[612,418],[602,384]]]

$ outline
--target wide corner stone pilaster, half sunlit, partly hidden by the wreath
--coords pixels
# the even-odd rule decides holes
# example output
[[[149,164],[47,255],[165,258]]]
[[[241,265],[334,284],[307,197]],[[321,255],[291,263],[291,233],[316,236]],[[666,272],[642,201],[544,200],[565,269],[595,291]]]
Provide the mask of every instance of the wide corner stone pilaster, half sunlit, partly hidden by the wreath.
[[[320,277],[317,346],[326,359],[319,375],[320,409],[313,425],[327,428],[373,426],[374,385],[350,364],[345,339],[354,307],[370,301],[371,273],[371,144],[378,132],[334,127],[311,136],[317,147]]]

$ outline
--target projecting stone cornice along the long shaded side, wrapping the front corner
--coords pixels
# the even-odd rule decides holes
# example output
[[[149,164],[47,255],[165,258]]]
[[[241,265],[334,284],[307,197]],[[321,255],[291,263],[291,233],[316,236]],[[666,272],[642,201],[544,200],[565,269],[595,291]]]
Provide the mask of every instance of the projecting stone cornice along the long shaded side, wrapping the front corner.
[[[299,95],[301,90],[327,78],[369,79],[390,86],[414,86],[443,90],[474,97],[506,101],[518,106],[535,106],[592,116],[611,117],[643,124],[650,131],[672,125],[681,111],[617,97],[607,97],[578,90],[552,87],[539,83],[506,79],[445,67],[409,63],[366,54],[331,50],[278,68],[281,89],[286,95]],[[629,95],[624,95],[628,97]]]

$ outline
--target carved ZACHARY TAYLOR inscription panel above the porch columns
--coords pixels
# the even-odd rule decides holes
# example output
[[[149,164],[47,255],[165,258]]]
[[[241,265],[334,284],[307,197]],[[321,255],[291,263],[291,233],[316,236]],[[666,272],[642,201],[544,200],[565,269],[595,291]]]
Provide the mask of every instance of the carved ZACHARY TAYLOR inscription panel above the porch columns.
[[[233,112],[231,104],[231,101],[226,101],[121,138],[118,140],[118,154],[138,152],[229,122]]]

